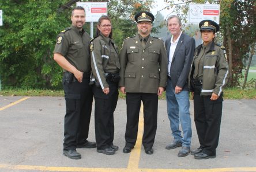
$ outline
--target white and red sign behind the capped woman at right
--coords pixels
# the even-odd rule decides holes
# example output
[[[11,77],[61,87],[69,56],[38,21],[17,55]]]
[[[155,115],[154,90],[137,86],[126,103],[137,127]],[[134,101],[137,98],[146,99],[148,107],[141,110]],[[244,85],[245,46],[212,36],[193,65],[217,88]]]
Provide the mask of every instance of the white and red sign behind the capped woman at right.
[[[189,23],[198,24],[204,19],[220,22],[219,4],[189,4]]]

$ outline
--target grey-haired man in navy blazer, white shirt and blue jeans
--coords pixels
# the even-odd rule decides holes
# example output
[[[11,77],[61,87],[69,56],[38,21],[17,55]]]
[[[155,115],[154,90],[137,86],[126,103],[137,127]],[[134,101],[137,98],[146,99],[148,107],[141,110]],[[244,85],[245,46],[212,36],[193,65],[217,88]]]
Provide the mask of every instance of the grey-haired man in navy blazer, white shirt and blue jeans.
[[[166,149],[181,147],[178,157],[190,153],[191,119],[189,112],[188,76],[195,50],[194,38],[182,33],[182,23],[176,15],[167,19],[168,30],[172,37],[165,41],[168,57],[168,79],[166,87],[167,112],[174,140]],[[181,124],[182,132],[179,129]]]

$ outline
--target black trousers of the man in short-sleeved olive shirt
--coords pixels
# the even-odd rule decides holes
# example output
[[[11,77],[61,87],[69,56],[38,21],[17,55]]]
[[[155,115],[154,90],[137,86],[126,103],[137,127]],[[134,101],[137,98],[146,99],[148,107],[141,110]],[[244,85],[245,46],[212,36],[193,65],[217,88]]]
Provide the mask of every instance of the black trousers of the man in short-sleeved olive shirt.
[[[89,78],[84,77],[82,83],[79,83],[76,79],[67,81],[63,77],[62,84],[66,100],[63,150],[76,150],[78,144],[88,142],[86,139],[93,101],[89,81]]]

